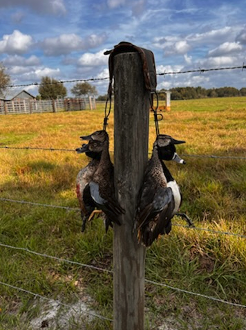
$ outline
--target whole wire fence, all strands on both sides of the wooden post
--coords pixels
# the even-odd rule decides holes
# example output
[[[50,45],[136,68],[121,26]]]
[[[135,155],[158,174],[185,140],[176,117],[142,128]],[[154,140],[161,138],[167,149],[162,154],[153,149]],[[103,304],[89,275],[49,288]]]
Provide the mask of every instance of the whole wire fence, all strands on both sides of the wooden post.
[[[226,70],[235,70],[235,69],[241,69],[242,71],[246,68],[245,64],[243,63],[243,66],[233,66],[233,67],[224,67],[224,68],[199,68],[197,70],[189,70],[189,71],[178,71],[178,72],[163,72],[163,73],[157,73],[157,75],[178,75],[178,74],[184,74],[184,73],[206,73],[208,71],[226,71]],[[64,80],[64,81],[59,81],[58,83],[70,83],[70,82],[88,82],[88,81],[97,81],[97,80],[108,80],[108,77],[105,78],[88,78],[88,79],[80,79],[80,80]],[[14,87],[20,87],[20,86],[30,86],[30,85],[41,85],[41,83],[38,82],[33,82],[31,84],[17,84],[17,85],[10,85],[10,88],[14,88]],[[38,150],[38,151],[49,151],[49,152],[75,152],[75,149],[57,149],[57,148],[47,148],[47,147],[9,147],[9,146],[0,146],[0,149],[6,149],[6,150],[11,150],[11,149],[16,149],[16,150]],[[216,156],[216,155],[194,155],[194,154],[183,154],[182,156],[184,157],[195,157],[195,158],[212,158],[212,159],[235,159],[235,160],[245,160],[246,156]],[[57,209],[62,209],[62,210],[66,210],[66,211],[72,211],[72,212],[79,212],[80,209],[79,208],[73,208],[73,207],[69,207],[69,206],[63,206],[63,205],[50,205],[50,204],[46,204],[46,203],[37,203],[37,202],[32,202],[32,201],[24,201],[24,200],[15,200],[15,199],[8,199],[5,197],[0,197],[0,201],[3,203],[20,203],[20,204],[25,204],[25,205],[32,205],[33,207],[42,207],[42,208],[57,208]],[[200,228],[200,227],[189,227],[189,226],[183,226],[179,223],[173,223],[173,226],[176,226],[177,228],[181,227],[181,228],[185,228],[186,230],[196,230],[198,232],[209,232],[209,234],[211,235],[227,235],[229,237],[236,237],[238,239],[245,239],[246,235],[243,234],[238,234],[236,232],[224,232],[224,231],[220,231],[220,230],[214,230],[213,228]],[[3,242],[0,242],[0,247],[1,248],[7,248],[10,250],[15,250],[18,251],[19,253],[28,253],[31,255],[37,255],[39,257],[44,257],[44,258],[48,258],[48,259],[52,259],[56,262],[62,262],[62,263],[67,263],[67,264],[73,264],[74,266],[78,266],[78,267],[83,267],[83,268],[88,268],[91,271],[98,271],[98,272],[105,272],[108,273],[109,275],[113,275],[113,271],[111,269],[107,269],[107,268],[102,268],[100,266],[95,266],[95,265],[91,265],[91,264],[83,264],[77,261],[73,261],[70,259],[64,259],[64,258],[60,258],[57,256],[53,256],[53,255],[48,255],[46,253],[39,253],[35,250],[30,250],[28,248],[23,248],[21,246],[11,246],[9,244],[4,244]],[[204,299],[207,300],[211,300],[214,302],[218,302],[221,304],[227,304],[229,306],[234,306],[234,307],[238,307],[238,308],[242,308],[245,309],[246,305],[245,304],[239,304],[236,302],[229,302],[227,300],[223,300],[220,299],[220,297],[213,297],[213,296],[209,296],[209,295],[203,295],[201,293],[196,293],[193,291],[188,291],[185,288],[178,288],[176,286],[171,286],[167,283],[160,283],[160,282],[155,282],[152,281],[150,279],[145,279],[146,284],[151,284],[154,286],[161,286],[163,288],[167,288],[171,291],[175,291],[177,293],[185,293],[187,295],[194,295],[196,297],[202,297]],[[20,288],[19,286],[14,286],[12,284],[8,284],[5,282],[1,282],[0,281],[0,285],[1,286],[5,286],[8,287],[12,290],[15,291],[21,291],[23,293],[26,293],[28,295],[32,295],[34,297],[39,297],[42,300],[47,300],[49,302],[55,302],[56,304],[59,304],[60,306],[64,306],[68,309],[73,309],[73,306],[70,304],[65,304],[64,302],[61,302],[59,300],[53,300],[49,297],[46,297],[44,295],[40,295],[38,293],[33,293],[32,291],[28,291],[25,288]],[[223,288],[223,291],[225,291],[225,289]],[[75,313],[77,313],[76,310],[74,310]],[[93,313],[91,311],[84,311],[85,314],[87,315],[91,315],[93,316],[93,318],[99,318],[101,320],[107,320],[109,322],[112,322],[113,320],[111,318],[105,318],[104,316],[97,314],[97,313]]]

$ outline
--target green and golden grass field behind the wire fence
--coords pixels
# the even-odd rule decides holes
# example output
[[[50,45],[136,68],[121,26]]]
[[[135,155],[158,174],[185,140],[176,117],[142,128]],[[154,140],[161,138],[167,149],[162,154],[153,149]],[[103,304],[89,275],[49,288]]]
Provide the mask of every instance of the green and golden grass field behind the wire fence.
[[[181,211],[198,228],[173,226],[146,253],[146,279],[200,295],[246,305],[246,98],[173,101],[160,132],[187,143],[177,147],[187,164],[169,163],[183,194]],[[79,136],[102,129],[103,109],[0,118],[0,147],[75,149]],[[113,160],[113,112],[108,121]],[[149,152],[155,140],[150,114]],[[187,156],[184,156],[187,155]],[[195,156],[225,156],[210,158]],[[229,157],[236,158],[229,158]],[[0,198],[77,208],[75,178],[85,155],[0,149]],[[37,253],[112,270],[112,238],[102,219],[82,233],[77,210],[0,200],[0,330],[113,329],[111,321],[66,314],[41,318],[52,302],[85,302],[94,313],[113,317],[112,274]],[[185,225],[179,218],[173,223]],[[11,288],[10,286],[16,288]],[[55,304],[55,302],[53,302]],[[66,315],[66,326],[62,320]],[[246,329],[246,308],[146,282],[146,329]],[[41,324],[41,322],[44,322]],[[62,323],[63,322],[63,323]],[[163,327],[166,324],[166,328]],[[169,328],[168,328],[169,327]],[[44,328],[45,329],[45,328]]]

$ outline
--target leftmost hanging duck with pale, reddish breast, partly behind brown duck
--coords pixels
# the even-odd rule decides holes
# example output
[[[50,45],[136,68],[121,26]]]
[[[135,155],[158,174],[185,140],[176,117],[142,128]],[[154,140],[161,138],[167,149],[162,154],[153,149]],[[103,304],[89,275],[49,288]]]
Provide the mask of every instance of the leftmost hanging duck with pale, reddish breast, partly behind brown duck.
[[[76,149],[77,154],[85,153],[91,158],[86,167],[80,169],[76,177],[76,193],[79,201],[79,208],[82,217],[82,232],[86,229],[87,221],[90,221],[95,214],[95,204],[88,193],[88,183],[91,182],[101,158],[100,152],[90,152],[86,144]]]

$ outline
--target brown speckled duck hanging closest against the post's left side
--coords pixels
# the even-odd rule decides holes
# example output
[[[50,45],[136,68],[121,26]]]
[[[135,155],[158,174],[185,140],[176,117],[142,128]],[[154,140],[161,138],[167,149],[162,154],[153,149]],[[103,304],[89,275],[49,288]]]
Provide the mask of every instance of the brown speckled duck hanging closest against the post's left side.
[[[88,183],[88,192],[93,199],[95,207],[106,214],[106,231],[112,223],[120,225],[120,214],[124,213],[120,204],[115,199],[115,187],[113,178],[113,164],[108,152],[108,134],[106,131],[96,131],[90,136],[82,136],[89,140],[88,151],[100,152],[100,163]]]

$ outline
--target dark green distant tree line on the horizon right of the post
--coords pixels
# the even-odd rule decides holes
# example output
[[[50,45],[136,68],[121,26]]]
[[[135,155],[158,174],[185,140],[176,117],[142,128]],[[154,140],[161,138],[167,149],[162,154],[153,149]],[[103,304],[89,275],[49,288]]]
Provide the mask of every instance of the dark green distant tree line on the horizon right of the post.
[[[158,91],[160,99],[164,99],[164,89]],[[230,96],[246,96],[246,87],[236,89],[235,87],[220,87],[205,89],[198,87],[175,87],[171,91],[171,100],[191,100],[194,98],[227,98]],[[162,96],[163,93],[163,96]]]

